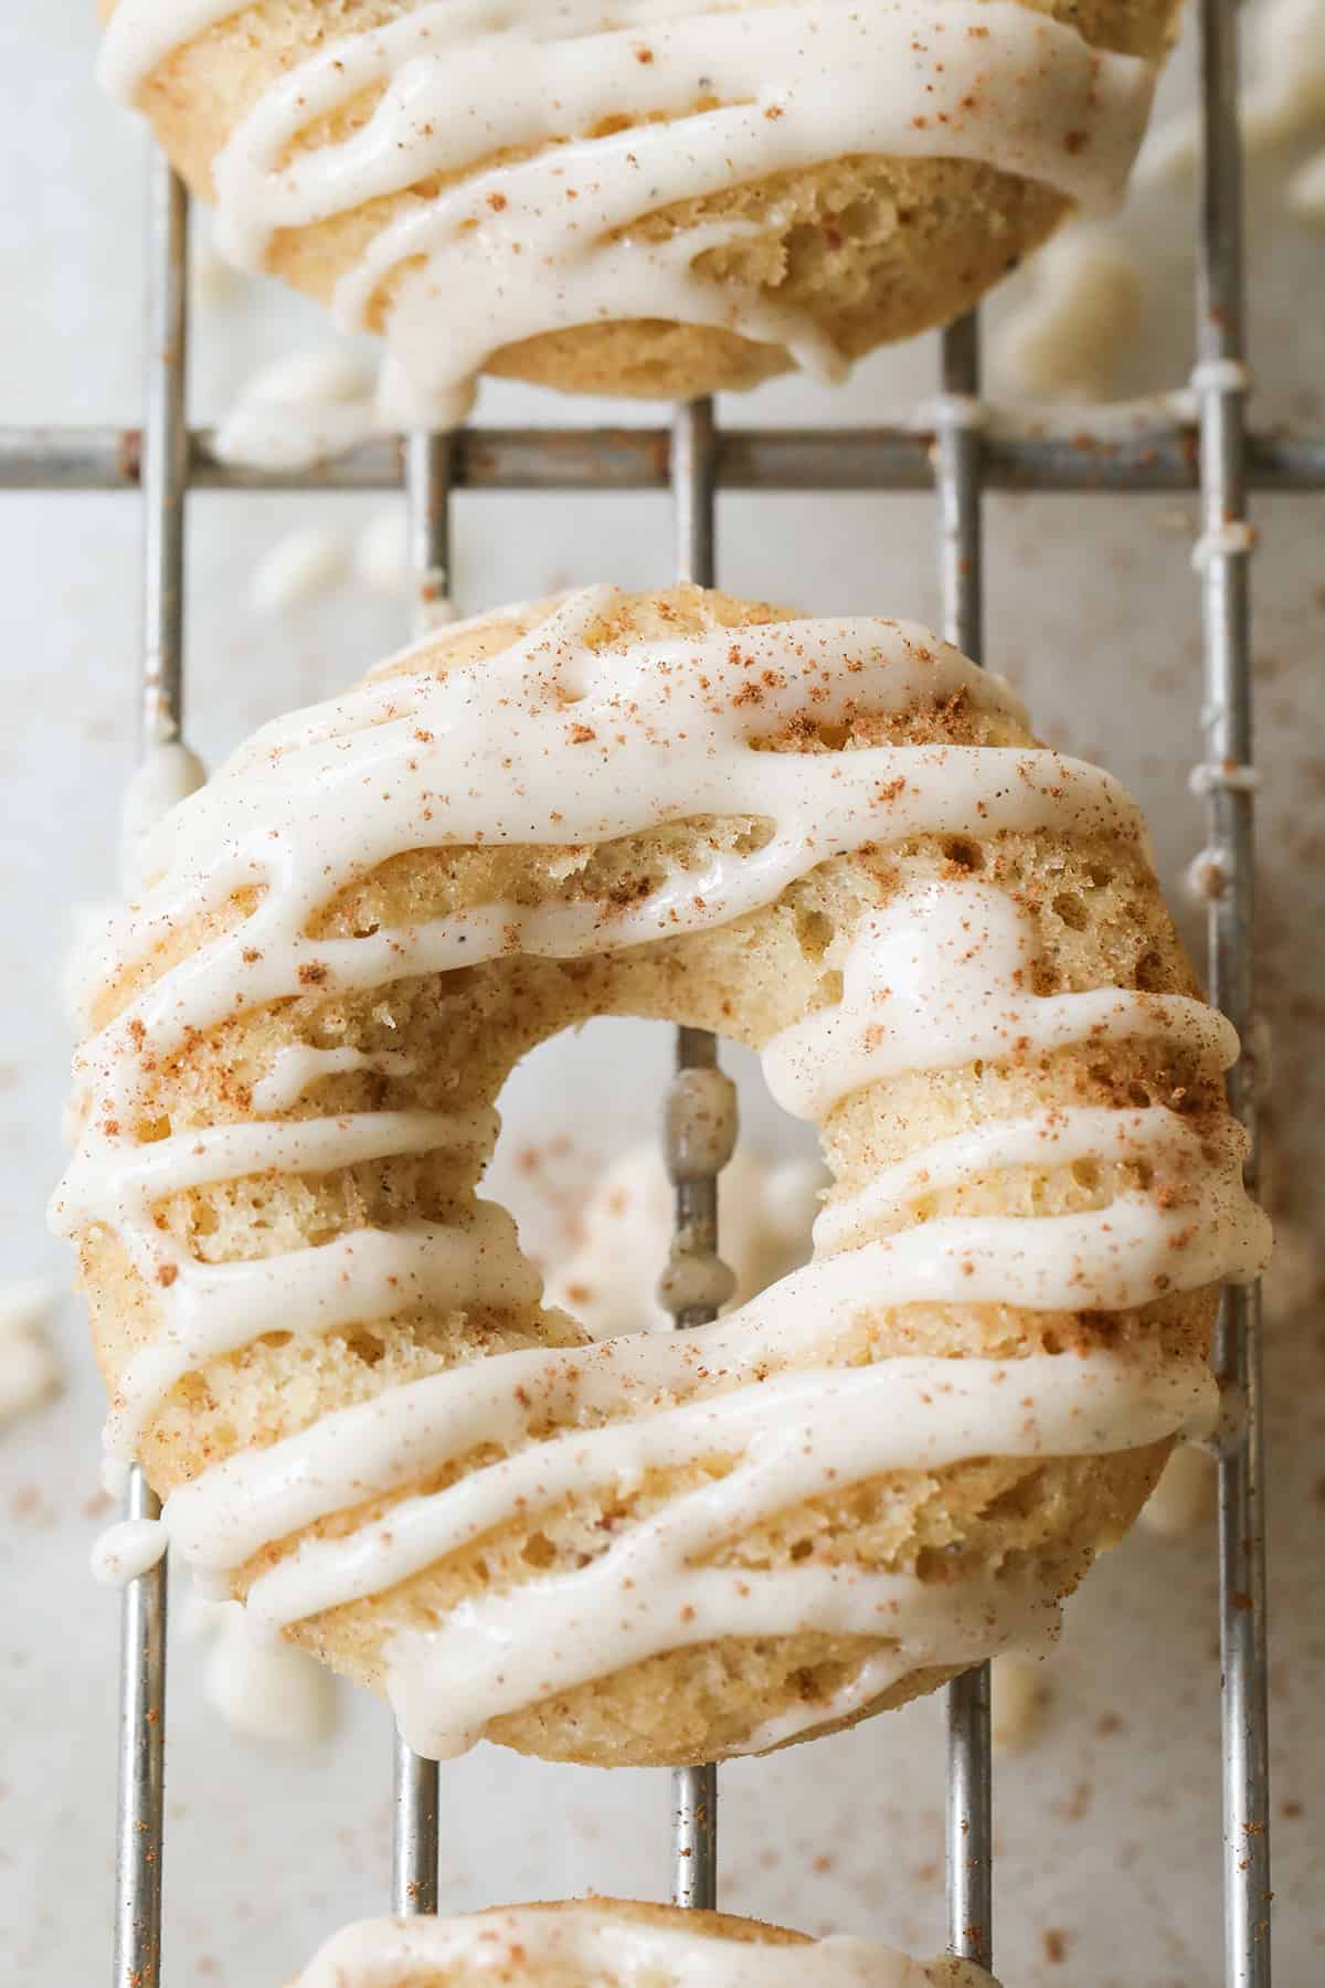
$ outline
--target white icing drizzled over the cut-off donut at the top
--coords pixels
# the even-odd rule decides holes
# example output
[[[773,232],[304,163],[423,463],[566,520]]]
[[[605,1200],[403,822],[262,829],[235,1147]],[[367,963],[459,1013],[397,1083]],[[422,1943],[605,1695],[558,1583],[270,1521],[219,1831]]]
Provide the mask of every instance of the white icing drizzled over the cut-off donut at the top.
[[[133,99],[159,62],[234,12],[119,0],[103,82]],[[660,241],[640,223],[848,155],[973,159],[1110,205],[1152,87],[1150,64],[1015,0],[443,0],[334,38],[270,82],[213,159],[219,241],[260,268],[278,231],[445,175],[366,243],[336,292],[352,330],[393,286],[383,392],[399,417],[451,425],[495,350],[604,318],[723,326],[832,378],[842,360],[807,314],[695,270],[755,223]],[[292,151],[364,91],[377,95],[360,129]],[[618,117],[636,121],[604,135]],[[511,157],[473,171],[499,151]]]

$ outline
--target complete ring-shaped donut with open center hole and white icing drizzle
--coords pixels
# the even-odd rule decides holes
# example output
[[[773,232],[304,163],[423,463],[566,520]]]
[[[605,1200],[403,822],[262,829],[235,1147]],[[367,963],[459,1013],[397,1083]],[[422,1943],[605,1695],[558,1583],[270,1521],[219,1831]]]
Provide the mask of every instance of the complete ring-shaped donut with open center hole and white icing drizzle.
[[[1210,1417],[1265,1258],[1236,1036],[1126,793],[922,628],[487,614],[143,855],[56,1197],[109,1449],[417,1751],[763,1751],[1041,1648]],[[814,1258],[713,1326],[590,1342],[475,1195],[513,1064],[598,1014],[820,1127]]]

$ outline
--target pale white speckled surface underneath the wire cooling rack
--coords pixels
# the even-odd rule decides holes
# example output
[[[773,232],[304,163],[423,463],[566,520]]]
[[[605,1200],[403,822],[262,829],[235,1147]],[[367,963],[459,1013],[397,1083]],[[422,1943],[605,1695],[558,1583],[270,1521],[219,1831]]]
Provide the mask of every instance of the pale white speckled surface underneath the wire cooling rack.
[[[135,421],[145,147],[91,83],[91,0],[0,14],[8,189],[0,225],[0,421]],[[1170,91],[1180,83],[1170,83]],[[1251,217],[1259,419],[1325,425],[1325,241],[1257,173]],[[1128,217],[1146,270],[1146,338],[1124,388],[1190,364],[1192,191]],[[1001,300],[997,308],[1007,308]],[[195,414],[213,417],[260,358],[320,342],[318,314],[250,286],[199,324]],[[878,419],[934,378],[932,344],[886,354],[836,398],[805,384],[725,408],[733,421]],[[481,419],[594,414],[515,388]],[[620,410],[610,410],[622,417]],[[626,410],[648,419],[654,410]],[[362,521],[371,499],[199,497],[191,505],[189,732],[211,759],[258,720],[352,680],[403,634],[403,606],[346,588],[284,622],[244,606],[254,559],[290,525]],[[568,580],[667,580],[662,499],[461,499],[465,608]],[[60,1169],[68,1032],[56,996],[72,909],[113,885],[117,791],[133,757],[137,543],[131,497],[0,499],[4,779],[0,1282],[66,1274],[42,1203]],[[1309,1235],[1321,1159],[1325,912],[1325,503],[1261,501],[1259,608],[1263,992],[1275,1030],[1275,1203],[1297,1262],[1271,1330],[1271,1676],[1279,1980],[1325,1972],[1325,1521],[1319,1278]],[[721,579],[818,612],[936,614],[934,513],[922,499],[721,503]],[[989,656],[1043,734],[1101,757],[1150,809],[1174,889],[1202,841],[1192,505],[989,501]],[[1184,911],[1198,938],[1196,914]],[[516,1083],[509,1139],[574,1137],[568,1169],[640,1137],[667,1044],[600,1024]],[[771,1119],[757,1125],[765,1143]],[[511,1143],[507,1145],[507,1155]],[[509,1167],[499,1165],[509,1177]],[[536,1211],[534,1211],[536,1213]],[[1283,1282],[1283,1278],[1281,1278]],[[101,1390],[81,1308],[58,1318],[68,1392],[0,1431],[0,1974],[74,1988],[107,1972],[113,1843],[115,1602],[85,1559],[97,1509]],[[197,1648],[173,1640],[165,1982],[268,1988],[344,1918],[387,1895],[389,1730],[368,1700],[312,1753],[232,1736],[203,1704]],[[1037,1747],[997,1781],[997,1950],[1009,1984],[1192,1988],[1220,1974],[1220,1732],[1214,1541],[1138,1535],[1069,1606]],[[662,1773],[554,1769],[495,1747],[443,1769],[443,1905],[588,1887],[663,1897]],[[936,1704],[723,1773],[723,1901],[810,1930],[942,1944],[942,1716]],[[1065,1960],[1053,1960],[1065,1936]]]

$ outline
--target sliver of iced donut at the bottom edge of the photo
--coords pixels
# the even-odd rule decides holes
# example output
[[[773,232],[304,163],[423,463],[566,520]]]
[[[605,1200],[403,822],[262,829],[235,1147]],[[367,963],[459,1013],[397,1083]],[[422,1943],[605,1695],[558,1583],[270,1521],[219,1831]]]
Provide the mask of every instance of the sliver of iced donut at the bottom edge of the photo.
[[[646,1978],[650,1988],[997,1988],[969,1960],[906,1960],[872,1940],[810,1940],[626,1899],[366,1918],[328,1940],[290,1988],[636,1988]]]

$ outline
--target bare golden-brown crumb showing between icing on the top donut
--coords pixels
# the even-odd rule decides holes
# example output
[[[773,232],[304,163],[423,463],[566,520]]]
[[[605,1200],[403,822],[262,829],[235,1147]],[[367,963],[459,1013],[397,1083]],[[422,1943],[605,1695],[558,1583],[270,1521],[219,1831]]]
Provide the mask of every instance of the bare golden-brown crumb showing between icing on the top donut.
[[[191,189],[211,199],[217,155],[278,76],[336,38],[397,22],[419,4],[258,0],[163,60],[141,87],[139,105]],[[767,4],[773,0],[733,0],[735,10]],[[1180,0],[1023,4],[1077,30],[1097,50],[1146,60],[1166,54],[1180,12]],[[101,0],[101,14],[113,12],[115,0]],[[942,0],[934,0],[932,14],[942,20]],[[610,6],[604,6],[604,22],[614,24]],[[795,76],[785,82],[793,83]],[[314,147],[342,143],[368,123],[377,95],[379,87],[366,89],[344,109],[314,119],[288,155],[298,161]],[[693,105],[671,115],[707,107],[711,97],[697,91]],[[924,123],[926,109],[924,83],[918,83],[916,125]],[[556,137],[634,127],[630,111],[606,107],[592,129],[568,129]],[[705,280],[759,294],[805,320],[840,360],[854,360],[882,342],[959,316],[1039,247],[1073,207],[1053,185],[1013,169],[944,157],[944,133],[936,127],[924,157],[848,151],[646,211],[642,219],[632,219],[630,239],[638,250],[648,250],[691,235],[695,270]],[[1099,139],[1089,131],[1069,131],[1065,143],[1085,151]],[[475,147],[473,159],[459,171],[431,173],[407,191],[280,229],[266,248],[266,266],[326,302],[373,237],[421,199],[528,155],[530,147],[487,153]],[[717,237],[707,247],[705,233]],[[407,268],[401,264],[387,274],[371,298],[373,326],[387,318]],[[453,310],[455,296],[443,294],[441,308]],[[592,300],[582,322],[507,344],[493,340],[485,370],[572,392],[693,396],[749,388],[789,366],[789,354],[773,334],[745,336],[721,322],[667,322],[663,312],[618,320],[612,310],[608,294]],[[594,322],[600,318],[604,322]]]

